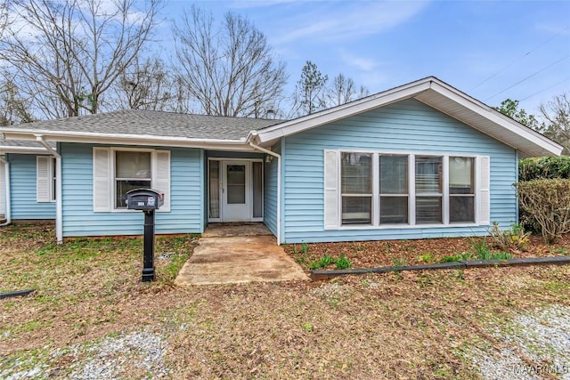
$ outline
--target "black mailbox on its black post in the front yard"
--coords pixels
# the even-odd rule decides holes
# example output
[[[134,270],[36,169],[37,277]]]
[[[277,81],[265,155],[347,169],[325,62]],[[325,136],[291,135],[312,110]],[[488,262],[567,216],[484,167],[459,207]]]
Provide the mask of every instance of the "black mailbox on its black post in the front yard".
[[[134,189],[126,193],[126,208],[144,213],[144,256],[142,281],[153,281],[154,273],[154,210],[164,205],[164,193],[154,189]]]

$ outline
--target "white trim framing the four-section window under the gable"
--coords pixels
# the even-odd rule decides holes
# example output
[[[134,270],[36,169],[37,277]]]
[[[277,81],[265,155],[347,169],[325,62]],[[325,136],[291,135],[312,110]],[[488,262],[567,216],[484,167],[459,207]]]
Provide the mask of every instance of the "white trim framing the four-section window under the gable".
[[[326,153],[327,150],[325,150]],[[338,222],[336,226],[328,225],[325,222],[325,230],[388,230],[388,229],[423,229],[423,228],[453,228],[453,227],[476,227],[482,225],[479,215],[479,202],[481,195],[481,184],[480,184],[480,172],[481,172],[481,158],[486,156],[480,156],[476,154],[464,154],[464,153],[438,153],[438,152],[411,152],[411,151],[390,151],[390,150],[329,150],[337,152],[337,181],[338,181]],[[370,153],[372,154],[372,183],[373,183],[373,193],[372,193],[372,224],[342,224],[342,198],[343,195],[340,191],[340,181],[341,181],[341,157],[342,153]],[[408,157],[408,222],[407,223],[379,223],[379,156],[382,154],[390,155],[403,155]],[[416,156],[428,156],[428,157],[441,157],[442,162],[442,194],[438,196],[442,197],[442,222],[441,223],[416,223],[416,192],[415,192],[415,157]],[[464,158],[474,158],[474,213],[475,222],[450,222],[449,217],[449,158],[450,157],[464,157]],[[487,157],[488,158],[488,157]],[[489,179],[490,180],[490,179]],[[324,179],[326,181],[326,178]],[[488,191],[488,190],[487,190]]]

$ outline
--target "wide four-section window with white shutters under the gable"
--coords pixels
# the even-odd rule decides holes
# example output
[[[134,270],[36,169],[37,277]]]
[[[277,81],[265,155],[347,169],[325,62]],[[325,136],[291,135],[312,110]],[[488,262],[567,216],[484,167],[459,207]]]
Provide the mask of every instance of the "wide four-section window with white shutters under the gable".
[[[488,225],[490,159],[324,151],[325,229]]]

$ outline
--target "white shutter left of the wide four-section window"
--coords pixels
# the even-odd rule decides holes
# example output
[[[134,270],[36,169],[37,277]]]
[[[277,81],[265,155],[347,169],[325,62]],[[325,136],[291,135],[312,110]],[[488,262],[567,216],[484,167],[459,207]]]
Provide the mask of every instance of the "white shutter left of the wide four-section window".
[[[338,151],[324,150],[324,229],[338,229]]]

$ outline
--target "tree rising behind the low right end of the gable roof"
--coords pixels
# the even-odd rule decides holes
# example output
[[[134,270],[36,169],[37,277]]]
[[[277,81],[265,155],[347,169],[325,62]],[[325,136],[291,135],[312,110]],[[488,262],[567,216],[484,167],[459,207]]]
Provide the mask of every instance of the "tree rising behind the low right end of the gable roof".
[[[564,147],[563,154],[570,154],[570,94],[562,93],[540,106],[545,123],[542,133]]]

